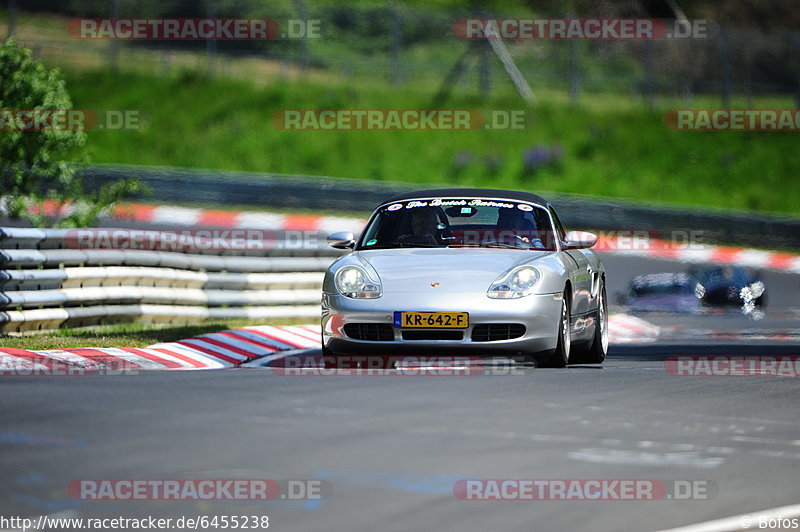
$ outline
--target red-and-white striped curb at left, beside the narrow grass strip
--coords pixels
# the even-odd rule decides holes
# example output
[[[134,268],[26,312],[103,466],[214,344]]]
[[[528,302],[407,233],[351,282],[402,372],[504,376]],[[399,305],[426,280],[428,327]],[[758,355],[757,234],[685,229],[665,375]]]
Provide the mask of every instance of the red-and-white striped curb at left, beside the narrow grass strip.
[[[29,351],[0,347],[0,375],[79,375],[232,368],[281,351],[319,347],[318,325],[253,326],[143,348]]]

